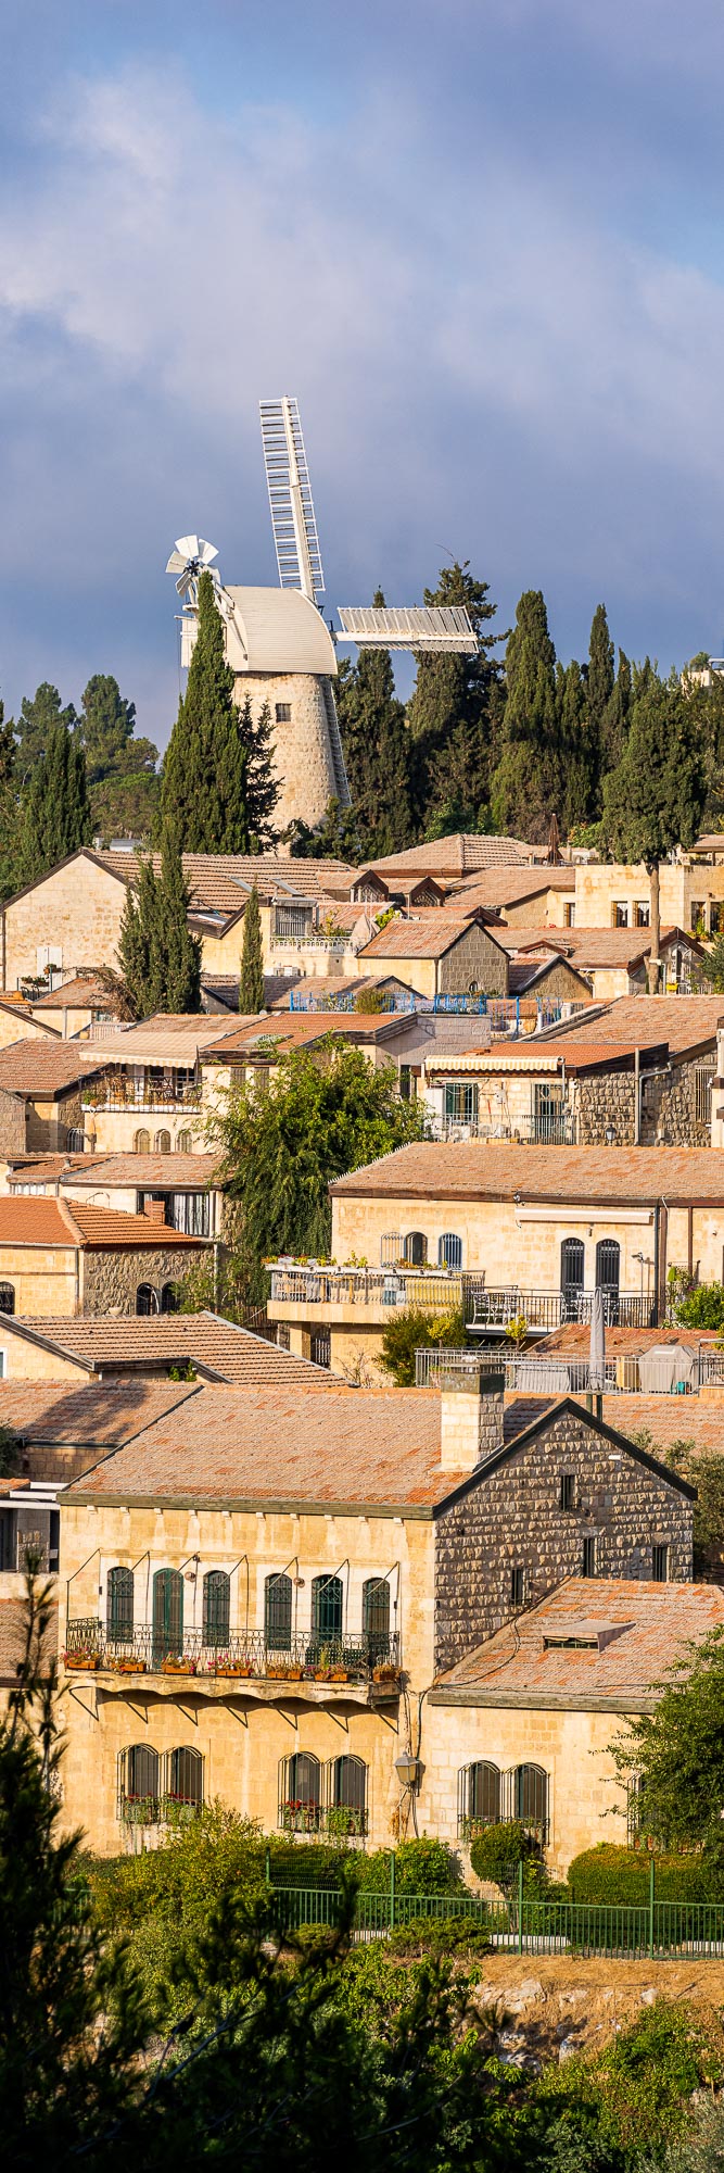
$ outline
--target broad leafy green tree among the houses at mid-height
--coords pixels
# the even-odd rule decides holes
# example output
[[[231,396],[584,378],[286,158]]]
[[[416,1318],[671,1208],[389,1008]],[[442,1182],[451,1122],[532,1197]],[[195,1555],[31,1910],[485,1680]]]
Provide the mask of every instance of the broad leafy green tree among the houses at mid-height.
[[[243,1208],[251,1297],[267,1295],[264,1258],[329,1249],[334,1178],[423,1136],[418,1104],[399,1100],[392,1069],[373,1071],[340,1037],[280,1056],[269,1021],[269,1084],[264,1076],[236,1089],[210,1121],[221,1182]]]

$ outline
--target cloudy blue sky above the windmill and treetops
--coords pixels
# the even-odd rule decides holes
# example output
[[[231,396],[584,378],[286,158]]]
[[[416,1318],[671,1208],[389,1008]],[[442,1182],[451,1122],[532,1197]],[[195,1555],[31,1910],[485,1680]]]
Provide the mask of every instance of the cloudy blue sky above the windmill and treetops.
[[[173,539],[275,582],[299,398],[336,604],[468,558],[557,652],[724,650],[720,0],[0,0],[0,695],[165,745]]]

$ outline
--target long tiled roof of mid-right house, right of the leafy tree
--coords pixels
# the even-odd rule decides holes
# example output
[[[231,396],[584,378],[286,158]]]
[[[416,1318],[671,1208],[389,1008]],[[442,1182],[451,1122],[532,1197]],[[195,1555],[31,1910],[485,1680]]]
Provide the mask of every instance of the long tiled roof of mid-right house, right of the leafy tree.
[[[332,1197],[366,1199],[566,1199],[724,1206],[720,1147],[516,1147],[421,1141],[336,1178]]]

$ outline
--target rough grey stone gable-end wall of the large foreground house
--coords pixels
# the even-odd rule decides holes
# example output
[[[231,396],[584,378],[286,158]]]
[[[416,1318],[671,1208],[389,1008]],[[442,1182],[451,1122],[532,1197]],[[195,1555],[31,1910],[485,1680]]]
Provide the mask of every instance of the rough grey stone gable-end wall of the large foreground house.
[[[572,1473],[574,1508],[561,1508]],[[436,1673],[535,1606],[561,1578],[581,1575],[583,1538],[596,1541],[600,1578],[650,1578],[668,1543],[672,1582],[691,1580],[694,1504],[616,1439],[561,1410],[551,1425],[486,1473],[436,1523]],[[522,1599],[512,1573],[522,1569]],[[596,1578],[592,1578],[592,1615]]]

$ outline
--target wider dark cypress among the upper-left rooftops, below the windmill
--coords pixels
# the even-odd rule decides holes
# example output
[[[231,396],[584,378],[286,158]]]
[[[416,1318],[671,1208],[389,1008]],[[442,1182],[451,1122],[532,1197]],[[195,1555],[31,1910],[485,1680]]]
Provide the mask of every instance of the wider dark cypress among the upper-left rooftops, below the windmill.
[[[141,854],[119,932],[121,980],[137,1019],[199,1010],[202,939],[191,934],[189,906],[182,856],[165,824],[160,865]]]

